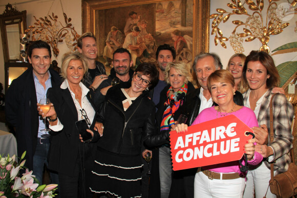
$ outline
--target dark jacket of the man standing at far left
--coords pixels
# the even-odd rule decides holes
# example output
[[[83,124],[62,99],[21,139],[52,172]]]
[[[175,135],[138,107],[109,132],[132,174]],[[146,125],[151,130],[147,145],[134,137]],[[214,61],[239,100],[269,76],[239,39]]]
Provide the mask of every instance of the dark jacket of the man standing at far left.
[[[49,72],[52,87],[59,86],[59,74],[52,69]],[[17,155],[20,157],[27,151],[26,167],[32,170],[40,118],[32,67],[10,84],[5,97],[5,115],[7,122],[16,128]]]

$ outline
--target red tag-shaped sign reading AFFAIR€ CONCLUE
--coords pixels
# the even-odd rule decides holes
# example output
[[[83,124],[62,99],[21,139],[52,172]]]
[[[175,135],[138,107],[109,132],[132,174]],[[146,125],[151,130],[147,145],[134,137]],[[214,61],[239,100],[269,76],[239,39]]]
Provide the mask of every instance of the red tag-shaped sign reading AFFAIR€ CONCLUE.
[[[186,133],[170,132],[173,170],[182,170],[240,160],[244,145],[253,133],[234,115],[217,118],[194,126]]]

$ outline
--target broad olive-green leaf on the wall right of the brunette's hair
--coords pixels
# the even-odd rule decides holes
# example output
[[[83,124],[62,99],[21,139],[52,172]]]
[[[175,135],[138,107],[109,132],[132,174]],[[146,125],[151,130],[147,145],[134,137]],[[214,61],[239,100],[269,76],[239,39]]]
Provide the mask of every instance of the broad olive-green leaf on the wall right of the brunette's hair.
[[[281,77],[280,87],[282,87],[288,81],[288,79],[297,71],[297,61],[283,62],[277,66],[277,69]]]

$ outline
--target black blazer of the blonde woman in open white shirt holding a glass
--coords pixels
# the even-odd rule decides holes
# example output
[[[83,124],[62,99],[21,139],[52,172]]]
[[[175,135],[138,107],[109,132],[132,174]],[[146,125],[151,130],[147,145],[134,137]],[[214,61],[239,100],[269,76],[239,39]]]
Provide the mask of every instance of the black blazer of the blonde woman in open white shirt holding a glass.
[[[79,132],[75,125],[75,122],[78,120],[78,115],[69,89],[61,89],[60,87],[50,88],[47,95],[54,104],[57,117],[63,124],[61,131],[51,132],[52,140],[49,153],[49,168],[71,176],[74,174],[75,164],[78,162],[78,159],[82,159],[83,151],[86,152],[84,154],[85,161],[92,158],[92,154],[94,154],[91,153],[93,143],[81,143],[79,140]],[[91,102],[89,95],[87,95],[87,98]],[[94,108],[93,104],[92,106]],[[94,128],[95,122],[96,114],[90,129]],[[93,132],[94,137],[92,142],[95,142],[98,140],[99,135],[98,132],[94,130]],[[83,146],[85,146],[84,149]],[[90,161],[91,160],[88,162]],[[91,162],[84,164],[90,165]]]

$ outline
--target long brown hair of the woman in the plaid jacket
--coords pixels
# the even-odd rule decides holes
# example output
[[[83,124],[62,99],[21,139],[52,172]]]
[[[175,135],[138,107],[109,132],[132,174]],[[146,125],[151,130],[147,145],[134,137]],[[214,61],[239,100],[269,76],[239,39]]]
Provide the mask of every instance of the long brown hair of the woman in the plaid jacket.
[[[273,86],[279,86],[281,79],[280,79],[279,71],[275,67],[273,58],[266,52],[254,51],[254,50],[249,53],[249,55],[246,57],[244,61],[244,66],[242,69],[242,80],[245,86],[248,86],[248,82],[245,75],[247,70],[247,64],[250,61],[252,62],[260,61],[261,64],[267,70],[267,75],[270,75],[270,77],[267,78],[266,80],[267,89],[270,89]]]

